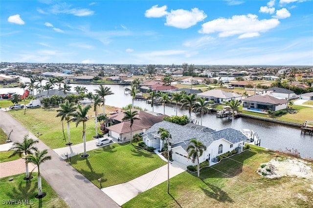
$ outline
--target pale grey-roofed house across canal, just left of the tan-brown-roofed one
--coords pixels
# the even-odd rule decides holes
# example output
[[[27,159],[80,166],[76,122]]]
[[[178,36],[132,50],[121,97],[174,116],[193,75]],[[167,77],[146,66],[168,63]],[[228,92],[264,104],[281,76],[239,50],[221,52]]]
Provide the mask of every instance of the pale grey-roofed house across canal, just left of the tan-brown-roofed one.
[[[198,93],[197,97],[205,97],[206,100],[213,100],[214,103],[224,104],[230,100],[241,100],[242,95],[237,93],[225,92],[223,90],[208,90],[203,93]]]

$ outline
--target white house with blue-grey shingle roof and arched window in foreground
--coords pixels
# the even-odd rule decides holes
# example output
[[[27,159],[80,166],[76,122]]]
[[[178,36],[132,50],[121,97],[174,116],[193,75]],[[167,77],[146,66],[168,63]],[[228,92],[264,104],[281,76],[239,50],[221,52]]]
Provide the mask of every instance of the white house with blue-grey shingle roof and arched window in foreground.
[[[171,143],[172,159],[185,166],[197,164],[197,161],[193,163],[191,159],[188,159],[186,149],[191,139],[200,140],[206,146],[206,151],[203,151],[199,162],[206,160],[217,162],[215,158],[227,151],[236,150],[241,152],[246,140],[246,136],[243,133],[231,128],[217,132],[205,132],[162,121],[153,125],[143,134],[143,142],[147,146],[162,149],[163,143],[166,141],[160,140],[160,134],[157,133],[159,128],[164,128],[170,132],[172,138],[169,142]]]

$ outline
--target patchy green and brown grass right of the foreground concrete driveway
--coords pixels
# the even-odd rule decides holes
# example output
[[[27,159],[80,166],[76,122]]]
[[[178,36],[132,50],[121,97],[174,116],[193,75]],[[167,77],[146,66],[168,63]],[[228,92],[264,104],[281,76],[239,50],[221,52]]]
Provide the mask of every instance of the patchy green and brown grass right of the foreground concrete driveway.
[[[271,158],[285,158],[279,155],[253,146],[251,151],[202,169],[201,178],[188,172],[171,178],[170,194],[167,194],[167,182],[164,182],[140,193],[122,207],[312,207],[312,180],[296,177],[267,179],[256,173],[260,164]]]

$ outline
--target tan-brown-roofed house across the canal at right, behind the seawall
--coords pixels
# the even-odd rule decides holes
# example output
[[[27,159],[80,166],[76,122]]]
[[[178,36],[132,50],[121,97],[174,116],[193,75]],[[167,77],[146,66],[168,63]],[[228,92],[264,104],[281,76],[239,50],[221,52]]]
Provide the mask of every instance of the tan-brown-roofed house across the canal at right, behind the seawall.
[[[268,110],[279,111],[287,109],[288,100],[278,99],[270,95],[252,95],[242,100],[243,111],[267,113]]]

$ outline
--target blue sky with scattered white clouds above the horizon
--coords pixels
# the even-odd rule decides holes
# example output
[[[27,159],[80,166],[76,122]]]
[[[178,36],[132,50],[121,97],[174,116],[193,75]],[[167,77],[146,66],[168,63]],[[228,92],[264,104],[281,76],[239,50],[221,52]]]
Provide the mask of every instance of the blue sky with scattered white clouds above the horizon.
[[[312,0],[0,1],[0,61],[313,65]]]

